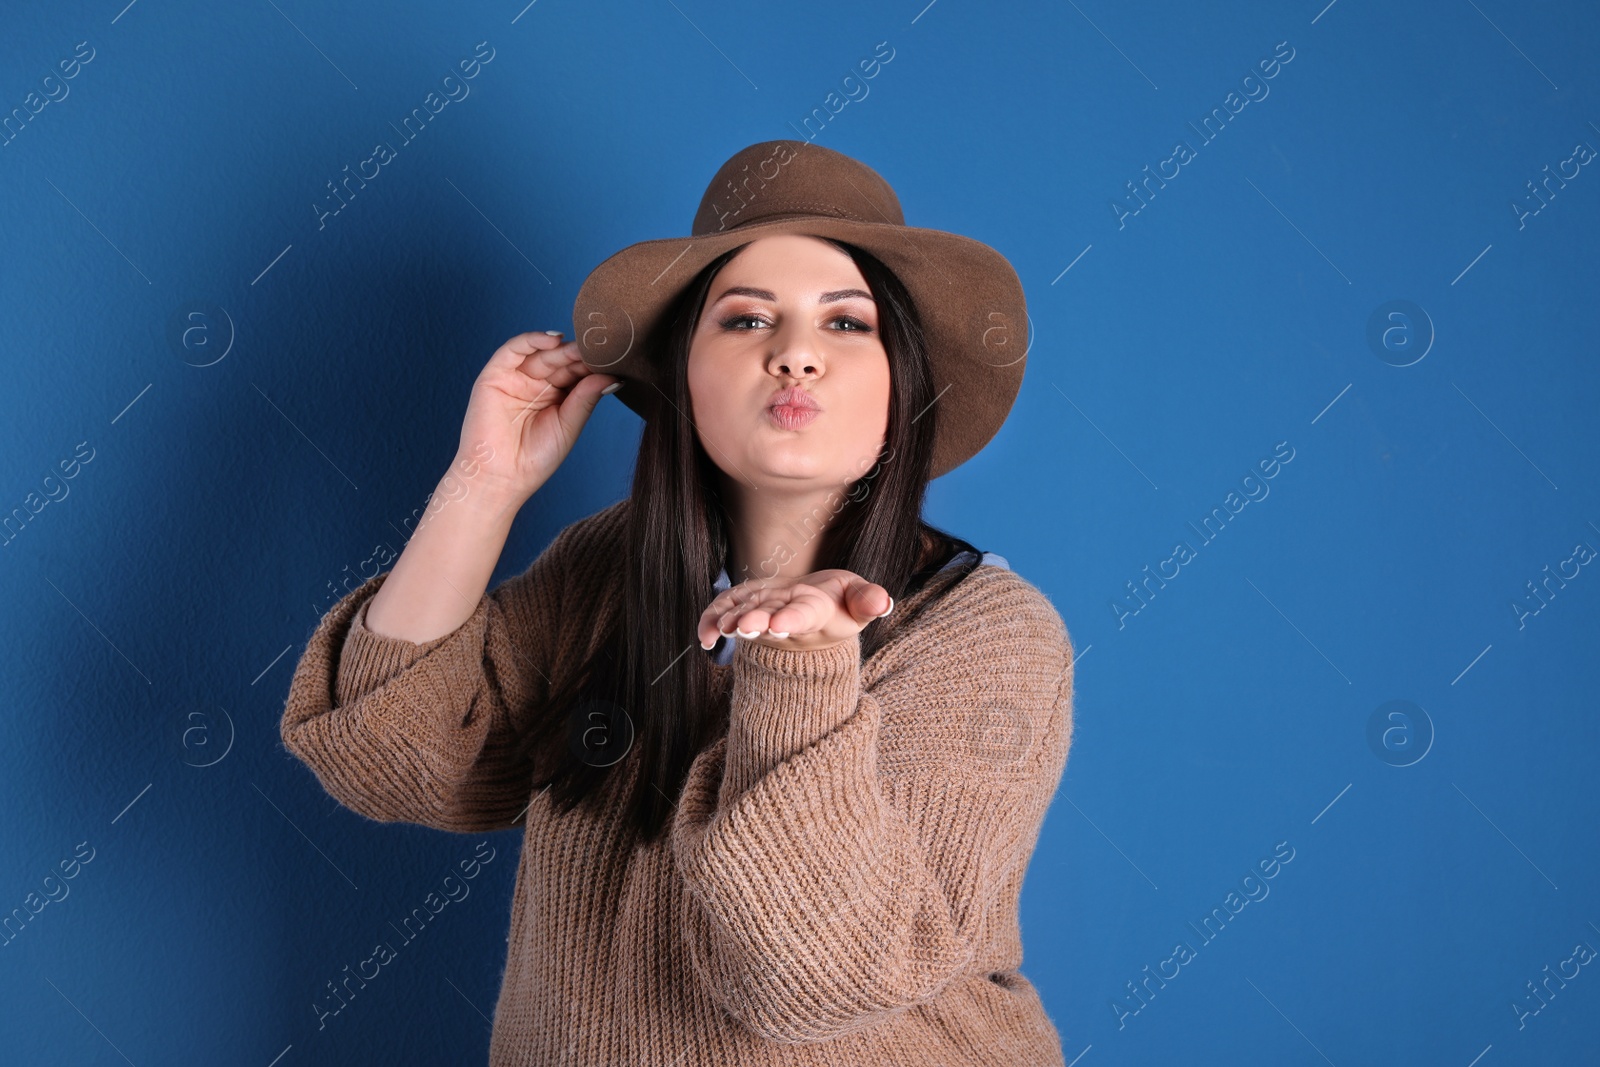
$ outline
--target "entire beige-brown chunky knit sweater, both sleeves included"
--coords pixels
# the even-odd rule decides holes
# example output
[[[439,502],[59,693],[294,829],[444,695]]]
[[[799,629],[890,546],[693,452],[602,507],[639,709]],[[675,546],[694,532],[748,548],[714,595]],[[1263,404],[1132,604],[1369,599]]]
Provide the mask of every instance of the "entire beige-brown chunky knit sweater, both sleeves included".
[[[1018,969],[1022,873],[1072,739],[1050,600],[981,565],[869,662],[859,637],[739,640],[712,664],[726,728],[646,845],[614,805],[555,813],[510,755],[616,609],[626,506],[566,526],[422,645],[365,629],[374,576],[290,683],[283,744],[347,808],[523,827],[491,1065],[1062,1064]]]

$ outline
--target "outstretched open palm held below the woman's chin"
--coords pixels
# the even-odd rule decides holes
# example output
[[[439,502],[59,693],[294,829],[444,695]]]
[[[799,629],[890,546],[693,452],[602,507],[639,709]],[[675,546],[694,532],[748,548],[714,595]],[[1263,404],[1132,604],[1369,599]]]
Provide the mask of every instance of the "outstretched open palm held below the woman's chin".
[[[830,648],[894,609],[894,598],[854,571],[813,571],[802,577],[755,577],[723,590],[701,613],[701,648],[717,635],[754,640],[771,648]]]

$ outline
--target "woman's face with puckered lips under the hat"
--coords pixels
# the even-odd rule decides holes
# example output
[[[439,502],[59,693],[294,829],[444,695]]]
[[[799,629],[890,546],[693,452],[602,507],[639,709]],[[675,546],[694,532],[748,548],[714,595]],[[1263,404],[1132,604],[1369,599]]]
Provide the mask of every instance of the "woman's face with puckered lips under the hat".
[[[816,237],[752,242],[706,293],[688,386],[701,446],[738,483],[805,491],[862,477],[885,443],[890,360],[856,262]],[[789,387],[818,410],[773,410]]]

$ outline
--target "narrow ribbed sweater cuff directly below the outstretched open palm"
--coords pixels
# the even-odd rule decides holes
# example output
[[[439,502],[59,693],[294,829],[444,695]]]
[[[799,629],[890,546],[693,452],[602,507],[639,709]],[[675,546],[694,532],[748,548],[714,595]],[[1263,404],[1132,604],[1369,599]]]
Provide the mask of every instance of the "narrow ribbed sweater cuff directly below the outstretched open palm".
[[[722,806],[854,715],[861,637],[811,651],[739,640]]]

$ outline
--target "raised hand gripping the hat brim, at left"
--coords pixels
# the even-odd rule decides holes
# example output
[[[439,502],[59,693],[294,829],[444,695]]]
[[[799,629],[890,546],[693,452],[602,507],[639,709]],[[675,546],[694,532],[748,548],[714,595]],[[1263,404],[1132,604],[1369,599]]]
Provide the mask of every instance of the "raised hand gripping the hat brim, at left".
[[[592,371],[576,341],[517,334],[472,382],[454,466],[466,462],[472,480],[520,507],[566,459],[600,390],[621,381]]]

